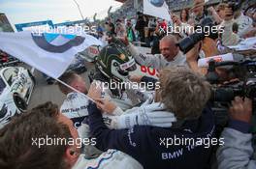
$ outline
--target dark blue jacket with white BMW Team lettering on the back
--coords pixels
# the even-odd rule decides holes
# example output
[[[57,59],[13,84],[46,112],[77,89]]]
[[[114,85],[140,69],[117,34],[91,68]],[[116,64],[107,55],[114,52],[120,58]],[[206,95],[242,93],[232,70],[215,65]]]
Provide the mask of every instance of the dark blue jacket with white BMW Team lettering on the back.
[[[211,138],[215,127],[209,109],[204,110],[199,120],[185,122],[179,128],[136,126],[130,129],[109,129],[94,103],[89,104],[88,112],[92,137],[96,137],[96,147],[102,151],[116,149],[124,152],[137,159],[144,169],[203,169],[208,164],[211,147],[189,144],[167,147],[167,142],[171,144],[171,138],[175,136],[183,140]]]

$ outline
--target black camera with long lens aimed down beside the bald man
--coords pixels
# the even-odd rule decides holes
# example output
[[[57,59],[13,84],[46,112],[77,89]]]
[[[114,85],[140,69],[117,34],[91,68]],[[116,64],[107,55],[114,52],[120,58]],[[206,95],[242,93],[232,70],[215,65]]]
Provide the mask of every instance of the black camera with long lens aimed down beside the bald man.
[[[212,40],[216,40],[218,38],[218,32],[216,29],[215,32],[213,31],[213,26],[216,26],[213,20],[209,17],[206,17],[201,21],[199,25],[195,27],[194,34],[182,39],[176,45],[185,54],[190,49],[192,49],[196,43],[204,40],[205,37],[211,38]]]

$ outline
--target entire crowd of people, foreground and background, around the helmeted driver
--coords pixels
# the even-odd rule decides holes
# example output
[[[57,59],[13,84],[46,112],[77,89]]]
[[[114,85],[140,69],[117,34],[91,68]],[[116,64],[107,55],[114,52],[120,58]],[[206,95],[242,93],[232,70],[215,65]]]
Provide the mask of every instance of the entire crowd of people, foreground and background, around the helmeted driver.
[[[198,66],[199,58],[224,54],[227,46],[255,37],[255,7],[240,7],[221,3],[206,9],[204,0],[194,0],[192,9],[170,13],[172,23],[141,13],[109,18],[105,31],[97,29],[106,46],[91,83],[66,71],[59,80],[67,85],[57,84],[66,96],[60,107],[41,104],[1,128],[0,168],[256,168],[250,130],[255,102],[234,98],[225,112],[228,121],[217,130],[208,68]],[[206,18],[223,32],[182,51],[177,43],[192,34],[186,26]],[[184,29],[167,34],[175,24]],[[151,54],[141,53],[138,42],[152,47]],[[159,70],[159,78],[131,75],[136,65]],[[231,70],[216,69],[218,85],[234,82]],[[152,88],[142,92],[134,83]]]

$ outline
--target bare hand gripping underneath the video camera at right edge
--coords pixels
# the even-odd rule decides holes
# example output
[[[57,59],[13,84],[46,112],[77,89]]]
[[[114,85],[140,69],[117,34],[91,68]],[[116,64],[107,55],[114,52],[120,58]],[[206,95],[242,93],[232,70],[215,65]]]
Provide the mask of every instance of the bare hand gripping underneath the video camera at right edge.
[[[232,101],[229,112],[232,119],[249,124],[252,116],[252,100],[247,98],[242,100],[240,97],[236,97]]]

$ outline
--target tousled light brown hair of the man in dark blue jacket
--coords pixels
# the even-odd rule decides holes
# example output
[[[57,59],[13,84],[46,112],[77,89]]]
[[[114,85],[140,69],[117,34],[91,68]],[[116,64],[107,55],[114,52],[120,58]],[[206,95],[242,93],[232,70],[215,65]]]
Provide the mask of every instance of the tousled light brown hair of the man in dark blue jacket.
[[[184,67],[168,67],[160,72],[160,101],[178,120],[201,116],[210,98],[210,84],[198,73]]]

